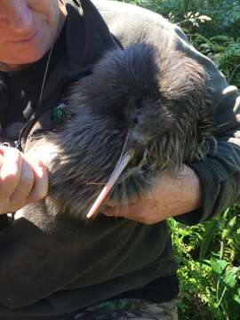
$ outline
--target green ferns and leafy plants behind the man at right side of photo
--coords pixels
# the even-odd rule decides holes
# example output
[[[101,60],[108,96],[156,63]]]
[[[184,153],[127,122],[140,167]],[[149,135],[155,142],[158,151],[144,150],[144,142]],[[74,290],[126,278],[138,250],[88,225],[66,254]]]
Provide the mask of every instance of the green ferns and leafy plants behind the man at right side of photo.
[[[184,29],[240,87],[240,0],[129,0]],[[179,262],[180,319],[240,319],[240,207],[188,228],[170,220]]]

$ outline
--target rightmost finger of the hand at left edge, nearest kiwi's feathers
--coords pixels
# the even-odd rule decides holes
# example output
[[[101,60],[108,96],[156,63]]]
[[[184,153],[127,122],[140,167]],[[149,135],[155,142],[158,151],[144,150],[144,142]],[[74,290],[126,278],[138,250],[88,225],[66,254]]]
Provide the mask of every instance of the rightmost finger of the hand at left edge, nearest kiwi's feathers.
[[[44,164],[40,160],[32,160],[35,176],[34,187],[27,198],[27,203],[33,203],[43,199],[47,195],[48,177]]]

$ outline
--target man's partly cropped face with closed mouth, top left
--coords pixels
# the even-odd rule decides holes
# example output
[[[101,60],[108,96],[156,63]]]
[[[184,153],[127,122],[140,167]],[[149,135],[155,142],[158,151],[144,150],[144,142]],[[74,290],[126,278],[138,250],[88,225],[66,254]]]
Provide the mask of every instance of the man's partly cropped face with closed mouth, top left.
[[[0,0],[0,69],[41,59],[57,36],[60,0]]]

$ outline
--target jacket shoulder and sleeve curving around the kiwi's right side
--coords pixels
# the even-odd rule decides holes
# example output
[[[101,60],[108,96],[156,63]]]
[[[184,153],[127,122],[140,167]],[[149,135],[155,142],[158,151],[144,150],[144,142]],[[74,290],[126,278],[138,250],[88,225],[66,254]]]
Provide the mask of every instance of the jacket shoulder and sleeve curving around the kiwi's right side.
[[[218,149],[215,155],[209,154],[205,160],[189,164],[198,175],[202,186],[202,209],[175,219],[190,225],[195,224],[234,204],[239,196],[240,150],[236,142],[238,138],[234,142],[236,145],[228,139],[233,138],[239,130],[236,87],[228,86],[225,77],[212,61],[189,44],[187,36],[178,26],[160,15],[130,4],[118,4],[116,14],[116,3],[109,1],[103,5],[103,2],[98,0],[94,0],[94,3],[98,4],[109,26],[114,23],[111,29],[124,46],[134,42],[154,44],[163,52],[163,58],[164,54],[178,51],[196,60],[204,68]]]

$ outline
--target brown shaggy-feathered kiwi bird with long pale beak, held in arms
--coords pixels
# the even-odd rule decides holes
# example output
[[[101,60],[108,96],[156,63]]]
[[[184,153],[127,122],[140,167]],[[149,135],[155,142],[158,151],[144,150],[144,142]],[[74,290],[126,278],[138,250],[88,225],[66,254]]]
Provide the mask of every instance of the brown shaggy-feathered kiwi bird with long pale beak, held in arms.
[[[207,75],[190,57],[165,50],[114,49],[72,84],[65,124],[39,144],[55,150],[49,212],[91,217],[107,196],[125,204],[161,172],[204,157],[212,138]]]

